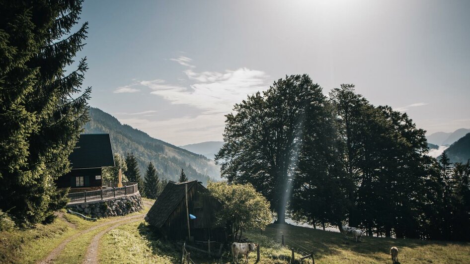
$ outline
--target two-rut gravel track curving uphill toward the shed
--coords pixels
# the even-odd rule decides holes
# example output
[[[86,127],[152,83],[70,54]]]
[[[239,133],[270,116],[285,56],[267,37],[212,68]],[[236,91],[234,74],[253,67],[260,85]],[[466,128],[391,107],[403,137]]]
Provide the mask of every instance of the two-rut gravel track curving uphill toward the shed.
[[[146,200],[143,200],[144,204],[146,206],[152,206],[153,205],[153,202],[150,202],[150,201],[146,201]],[[57,258],[57,256],[59,256],[59,254],[64,250],[64,248],[67,246],[67,244],[69,244],[73,239],[77,238],[77,237],[80,237],[81,235],[85,234],[85,233],[88,233],[88,232],[91,232],[93,230],[96,230],[100,227],[103,227],[103,226],[107,226],[107,225],[110,225],[110,224],[115,224],[109,228],[107,228],[106,230],[100,232],[99,234],[97,234],[96,236],[93,237],[92,241],[91,241],[91,244],[90,246],[88,246],[88,249],[86,251],[86,257],[85,257],[85,263],[97,263],[97,249],[98,249],[98,242],[99,242],[99,239],[107,232],[111,231],[112,229],[120,226],[120,225],[124,225],[124,224],[128,224],[128,223],[132,223],[132,222],[135,222],[135,221],[140,221],[144,218],[145,214],[138,214],[138,215],[132,215],[132,216],[127,216],[127,217],[123,217],[123,218],[119,218],[119,219],[116,219],[116,220],[112,220],[112,221],[109,221],[109,222],[105,222],[105,223],[101,223],[99,225],[95,225],[95,226],[92,226],[88,229],[85,229],[83,231],[80,231],[78,234],[75,234],[73,236],[70,236],[69,238],[67,238],[66,240],[62,241],[61,244],[59,244],[54,250],[51,251],[51,253],[49,253],[49,255],[44,258],[42,261],[38,262],[38,264],[48,264],[48,263],[53,263],[54,260]],[[93,243],[95,243],[95,247],[92,247]],[[94,250],[91,250],[90,248],[94,248]],[[90,261],[95,261],[95,262],[88,262],[88,259]]]

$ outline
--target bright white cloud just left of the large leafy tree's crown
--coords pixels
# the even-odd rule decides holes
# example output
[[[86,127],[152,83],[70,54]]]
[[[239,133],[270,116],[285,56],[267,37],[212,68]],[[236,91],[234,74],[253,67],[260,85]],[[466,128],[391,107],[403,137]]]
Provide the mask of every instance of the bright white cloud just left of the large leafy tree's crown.
[[[239,68],[225,72],[184,71],[189,79],[196,80],[190,87],[166,84],[163,80],[141,81],[152,89],[152,94],[163,97],[173,104],[185,104],[210,113],[228,113],[235,103],[248,94],[267,88],[268,75],[260,70]]]

